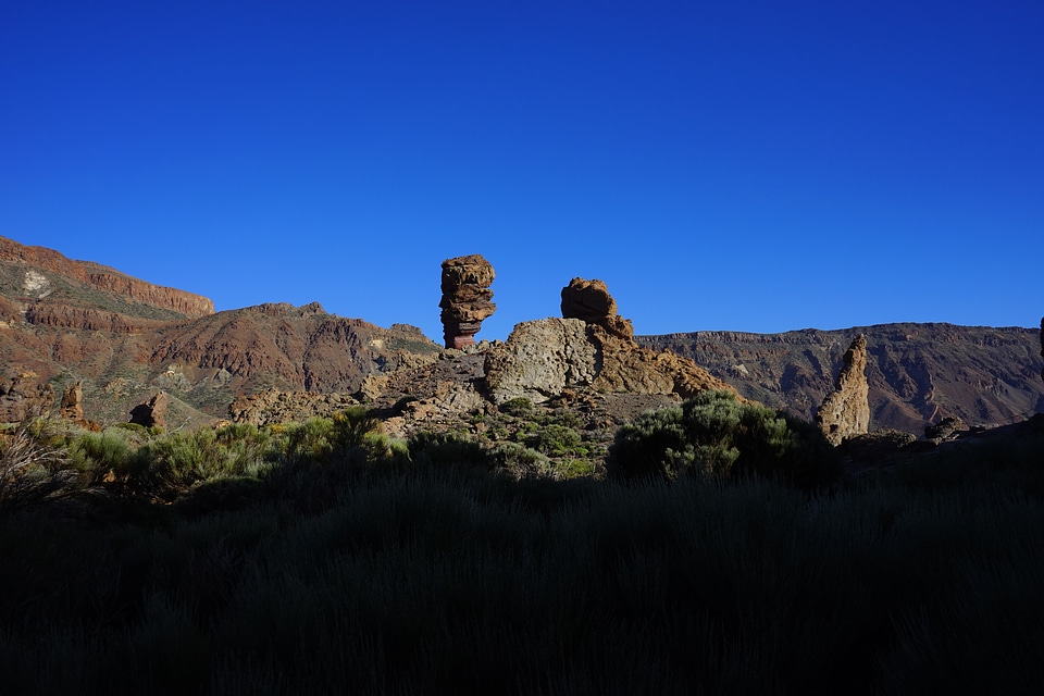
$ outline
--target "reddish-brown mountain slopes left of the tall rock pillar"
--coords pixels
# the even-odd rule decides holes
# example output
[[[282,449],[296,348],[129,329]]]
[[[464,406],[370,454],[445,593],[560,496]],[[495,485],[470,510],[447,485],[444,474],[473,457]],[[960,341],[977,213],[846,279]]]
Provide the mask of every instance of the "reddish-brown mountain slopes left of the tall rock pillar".
[[[57,409],[78,382],[89,420],[126,421],[165,391],[169,422],[195,424],[226,418],[245,393],[356,391],[437,351],[415,327],[319,303],[215,313],[207,298],[0,238],[0,415],[11,420]]]

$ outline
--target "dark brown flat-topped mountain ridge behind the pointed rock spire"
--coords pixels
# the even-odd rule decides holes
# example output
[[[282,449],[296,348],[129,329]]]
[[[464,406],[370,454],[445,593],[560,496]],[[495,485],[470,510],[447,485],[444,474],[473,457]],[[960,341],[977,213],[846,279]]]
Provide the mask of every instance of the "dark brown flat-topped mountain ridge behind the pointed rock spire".
[[[1044,411],[1040,336],[1033,328],[904,323],[636,340],[689,357],[743,396],[811,420],[859,334],[867,339],[871,428],[920,434],[947,415],[990,425]]]

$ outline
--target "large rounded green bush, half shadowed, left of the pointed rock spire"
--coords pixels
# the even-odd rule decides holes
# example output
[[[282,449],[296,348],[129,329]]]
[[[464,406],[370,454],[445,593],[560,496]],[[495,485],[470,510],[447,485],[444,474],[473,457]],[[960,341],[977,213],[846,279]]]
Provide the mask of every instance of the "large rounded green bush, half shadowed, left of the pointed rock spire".
[[[781,411],[704,391],[617,432],[609,475],[732,478],[756,474],[801,487],[838,481],[841,461],[816,426]]]

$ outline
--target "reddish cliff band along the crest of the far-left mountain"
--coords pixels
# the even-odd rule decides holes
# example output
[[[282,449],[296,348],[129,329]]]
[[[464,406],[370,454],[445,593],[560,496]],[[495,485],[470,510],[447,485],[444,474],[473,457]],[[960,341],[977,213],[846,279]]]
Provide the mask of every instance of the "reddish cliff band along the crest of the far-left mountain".
[[[47,297],[53,290],[50,278],[39,272],[45,271],[78,281],[103,293],[121,296],[132,302],[188,318],[214,313],[214,303],[206,297],[152,285],[90,261],[73,261],[52,249],[28,247],[5,237],[0,237],[0,261],[30,266],[26,271],[22,288],[23,295],[30,299]]]

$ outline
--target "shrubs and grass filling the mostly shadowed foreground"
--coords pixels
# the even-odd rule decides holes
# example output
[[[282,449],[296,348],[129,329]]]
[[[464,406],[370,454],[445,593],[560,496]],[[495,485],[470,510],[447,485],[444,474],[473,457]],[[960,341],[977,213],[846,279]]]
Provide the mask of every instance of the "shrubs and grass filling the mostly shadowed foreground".
[[[805,424],[708,394],[574,471],[556,453],[585,447],[568,417],[505,411],[543,420],[407,440],[362,408],[260,428],[10,427],[4,691],[1044,683],[1040,428],[850,477]]]

